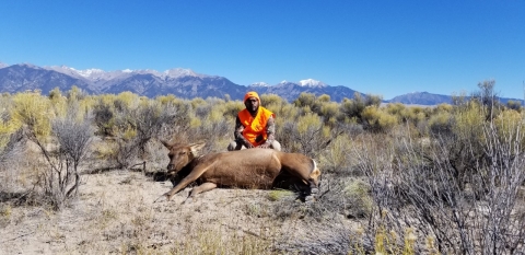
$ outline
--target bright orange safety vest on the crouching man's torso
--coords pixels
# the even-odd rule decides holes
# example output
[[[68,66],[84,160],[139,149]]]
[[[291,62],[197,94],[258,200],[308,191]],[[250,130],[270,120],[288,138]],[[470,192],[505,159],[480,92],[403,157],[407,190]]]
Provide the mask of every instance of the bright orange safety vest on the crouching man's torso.
[[[276,117],[276,115],[269,109],[259,106],[257,116],[252,117],[252,114],[247,109],[243,109],[238,113],[238,119],[244,126],[243,137],[246,138],[252,144],[259,146],[266,141],[268,134],[266,134],[266,124],[270,117]],[[262,136],[262,140],[256,142],[258,136]]]

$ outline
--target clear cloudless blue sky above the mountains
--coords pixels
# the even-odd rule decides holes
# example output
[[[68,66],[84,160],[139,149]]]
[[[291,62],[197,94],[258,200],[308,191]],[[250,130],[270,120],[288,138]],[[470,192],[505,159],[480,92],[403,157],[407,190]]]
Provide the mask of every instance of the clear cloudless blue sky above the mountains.
[[[385,100],[495,80],[501,96],[524,96],[523,0],[3,0],[0,22],[8,65],[315,79]]]

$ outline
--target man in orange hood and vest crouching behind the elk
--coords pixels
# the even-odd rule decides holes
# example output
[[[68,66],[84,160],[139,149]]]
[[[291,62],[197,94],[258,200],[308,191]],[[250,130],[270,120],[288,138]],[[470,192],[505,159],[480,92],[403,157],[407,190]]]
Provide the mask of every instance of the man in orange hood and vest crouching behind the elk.
[[[238,112],[235,119],[235,140],[228,146],[229,151],[252,148],[271,148],[280,151],[281,144],[276,141],[276,115],[260,106],[257,92],[244,95],[245,109]]]

